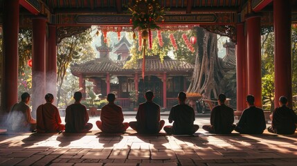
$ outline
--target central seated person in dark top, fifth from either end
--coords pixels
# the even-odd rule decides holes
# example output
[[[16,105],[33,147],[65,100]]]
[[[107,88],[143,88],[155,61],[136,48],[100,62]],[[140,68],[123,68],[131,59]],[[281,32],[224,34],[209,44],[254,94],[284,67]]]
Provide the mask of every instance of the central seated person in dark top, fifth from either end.
[[[137,133],[159,133],[165,121],[160,120],[160,106],[152,101],[154,93],[145,92],[147,102],[139,104],[136,122],[129,122],[129,126]]]

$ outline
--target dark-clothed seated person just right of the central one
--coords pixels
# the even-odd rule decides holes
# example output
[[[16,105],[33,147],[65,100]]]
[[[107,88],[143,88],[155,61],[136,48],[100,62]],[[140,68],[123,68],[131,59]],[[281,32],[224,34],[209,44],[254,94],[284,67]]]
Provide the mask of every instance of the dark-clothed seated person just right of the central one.
[[[199,126],[197,124],[194,124],[194,121],[195,121],[194,109],[185,103],[186,98],[187,98],[186,93],[179,92],[179,95],[177,96],[177,99],[179,100],[179,104],[172,107],[168,118],[170,123],[174,121],[173,127],[165,126],[164,130],[166,131],[166,133],[176,134],[176,135],[182,135],[182,134],[191,135],[199,129]]]

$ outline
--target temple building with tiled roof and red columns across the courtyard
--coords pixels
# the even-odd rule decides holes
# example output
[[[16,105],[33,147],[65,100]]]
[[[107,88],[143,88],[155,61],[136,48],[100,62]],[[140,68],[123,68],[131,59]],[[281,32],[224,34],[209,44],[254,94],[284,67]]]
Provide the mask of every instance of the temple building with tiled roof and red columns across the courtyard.
[[[162,108],[171,108],[177,104],[177,93],[186,91],[194,70],[194,65],[159,56],[145,57],[145,77],[142,75],[142,59],[134,68],[123,68],[129,60],[131,44],[124,36],[111,50],[104,42],[97,47],[100,57],[84,64],[71,66],[71,73],[80,79],[80,87],[86,93],[85,80],[93,82],[93,91],[101,93],[103,97],[108,93],[116,93],[118,104],[125,108],[132,107],[132,98],[138,103],[145,102],[145,91],[153,91],[154,102]],[[118,55],[113,61],[109,53]]]

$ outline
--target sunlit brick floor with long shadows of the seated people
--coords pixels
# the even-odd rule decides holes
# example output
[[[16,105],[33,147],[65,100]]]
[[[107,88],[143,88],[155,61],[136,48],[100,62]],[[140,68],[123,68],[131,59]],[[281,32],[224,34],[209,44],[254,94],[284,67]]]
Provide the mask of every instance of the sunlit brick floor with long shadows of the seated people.
[[[202,125],[201,121],[206,122],[195,123]],[[121,136],[108,136],[98,132],[96,128],[87,134],[0,132],[0,165],[290,166],[297,162],[297,133],[222,136],[199,129],[195,136],[143,136],[129,129]]]

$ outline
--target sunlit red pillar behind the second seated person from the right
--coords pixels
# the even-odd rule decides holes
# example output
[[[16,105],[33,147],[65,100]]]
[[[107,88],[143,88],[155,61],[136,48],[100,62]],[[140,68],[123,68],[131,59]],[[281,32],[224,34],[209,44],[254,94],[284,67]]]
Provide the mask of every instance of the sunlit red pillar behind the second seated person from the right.
[[[248,57],[248,93],[255,96],[255,106],[262,107],[260,16],[246,18]]]

